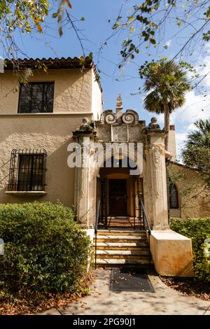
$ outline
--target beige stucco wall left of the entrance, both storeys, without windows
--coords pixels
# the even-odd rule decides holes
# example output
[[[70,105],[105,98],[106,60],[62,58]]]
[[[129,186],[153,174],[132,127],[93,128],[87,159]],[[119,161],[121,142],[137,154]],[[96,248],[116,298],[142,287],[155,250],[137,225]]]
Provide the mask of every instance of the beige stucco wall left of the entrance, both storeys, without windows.
[[[53,113],[18,113],[17,76],[12,71],[0,75],[0,202],[23,202],[37,197],[7,195],[10,153],[13,148],[45,148],[48,153],[46,188],[41,201],[73,205],[74,169],[67,166],[68,144],[73,141],[83,117],[90,120],[102,112],[102,92],[93,69],[34,71],[29,81],[54,81]],[[99,113],[99,115],[98,115]]]

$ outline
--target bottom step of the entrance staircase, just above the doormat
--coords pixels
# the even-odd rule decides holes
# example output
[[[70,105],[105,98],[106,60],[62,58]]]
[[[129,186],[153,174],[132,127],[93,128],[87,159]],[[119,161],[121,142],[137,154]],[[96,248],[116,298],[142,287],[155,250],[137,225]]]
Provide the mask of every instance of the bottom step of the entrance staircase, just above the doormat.
[[[125,258],[97,258],[97,266],[120,266],[120,265],[145,265],[148,267],[148,258],[145,259],[125,259]]]

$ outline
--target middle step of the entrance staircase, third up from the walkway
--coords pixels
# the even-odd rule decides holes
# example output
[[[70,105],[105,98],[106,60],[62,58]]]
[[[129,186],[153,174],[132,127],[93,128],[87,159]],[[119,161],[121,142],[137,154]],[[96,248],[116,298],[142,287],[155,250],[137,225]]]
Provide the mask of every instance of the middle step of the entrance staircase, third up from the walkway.
[[[97,242],[97,250],[146,250],[148,249],[148,244],[144,241],[137,242]]]

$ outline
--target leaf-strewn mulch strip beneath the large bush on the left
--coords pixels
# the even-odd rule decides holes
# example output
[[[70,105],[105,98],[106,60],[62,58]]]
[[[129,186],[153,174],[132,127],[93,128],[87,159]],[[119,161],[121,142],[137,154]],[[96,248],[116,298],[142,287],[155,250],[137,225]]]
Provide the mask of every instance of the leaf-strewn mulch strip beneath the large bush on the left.
[[[80,297],[90,293],[89,286],[93,280],[91,273],[80,282],[76,293],[37,293],[26,290],[25,294],[5,295],[0,291],[0,315],[36,314],[51,307],[59,309],[66,304],[76,302]],[[24,295],[24,297],[23,297]]]

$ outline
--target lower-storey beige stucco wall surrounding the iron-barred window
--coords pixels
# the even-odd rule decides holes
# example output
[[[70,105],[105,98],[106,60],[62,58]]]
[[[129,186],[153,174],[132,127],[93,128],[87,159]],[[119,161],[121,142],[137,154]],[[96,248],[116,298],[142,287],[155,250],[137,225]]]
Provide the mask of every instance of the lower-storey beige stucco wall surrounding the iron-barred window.
[[[40,201],[60,202],[71,206],[74,193],[74,169],[67,166],[67,146],[72,141],[71,132],[82,122],[83,115],[73,116],[15,116],[0,118],[0,203],[22,202],[26,197],[6,195],[13,148],[45,148],[48,152],[46,188],[47,195]],[[91,115],[89,115],[91,118]],[[31,200],[35,200],[32,197]]]

